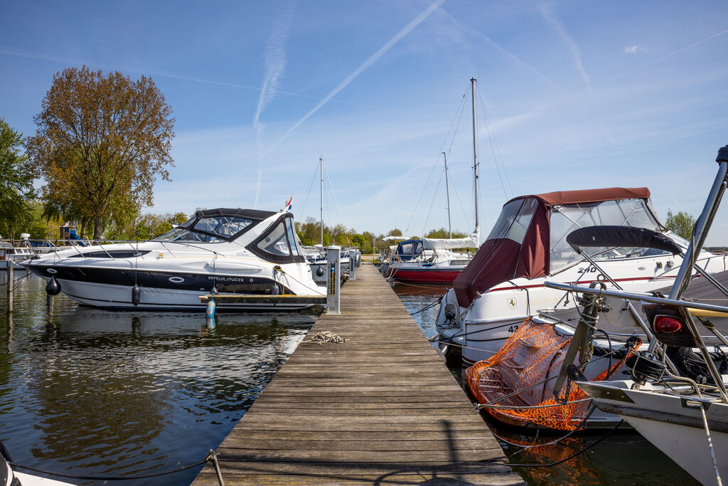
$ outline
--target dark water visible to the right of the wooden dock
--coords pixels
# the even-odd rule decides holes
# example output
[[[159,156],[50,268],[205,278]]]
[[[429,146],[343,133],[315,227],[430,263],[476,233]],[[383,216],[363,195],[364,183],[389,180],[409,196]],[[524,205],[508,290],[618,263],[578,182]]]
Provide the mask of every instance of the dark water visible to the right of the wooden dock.
[[[444,287],[395,285],[397,295],[410,313],[414,313],[434,302],[445,292]],[[417,313],[412,317],[425,336],[437,334],[435,317],[437,307]],[[451,372],[462,384],[462,369],[451,367]],[[533,444],[534,437],[522,435],[514,428],[504,428],[488,415],[484,420],[499,437],[501,447],[514,463],[554,463],[582,450],[600,439],[604,432],[582,433],[563,441],[563,445],[544,445],[523,450],[508,444]],[[551,442],[563,434],[539,439],[540,443]],[[507,442],[506,442],[507,441]],[[547,468],[514,468],[529,485],[697,485],[695,479],[668,456],[646,441],[635,431],[617,431],[584,454],[567,460],[558,466]]]

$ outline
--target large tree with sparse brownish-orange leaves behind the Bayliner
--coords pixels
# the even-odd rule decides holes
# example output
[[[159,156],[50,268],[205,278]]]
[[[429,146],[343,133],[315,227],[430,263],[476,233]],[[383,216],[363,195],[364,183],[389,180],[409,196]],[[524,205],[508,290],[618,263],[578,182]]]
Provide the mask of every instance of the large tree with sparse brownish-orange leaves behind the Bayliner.
[[[94,239],[117,213],[151,205],[157,177],[170,180],[175,119],[149,77],[66,68],[33,120],[26,167],[45,181],[47,212],[92,224]]]

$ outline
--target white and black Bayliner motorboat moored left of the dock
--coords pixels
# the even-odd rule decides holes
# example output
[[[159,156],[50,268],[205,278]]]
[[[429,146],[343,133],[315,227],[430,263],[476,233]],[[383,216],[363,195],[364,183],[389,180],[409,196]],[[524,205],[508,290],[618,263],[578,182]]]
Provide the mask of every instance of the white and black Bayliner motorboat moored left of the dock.
[[[210,292],[324,295],[301,251],[293,214],[218,208],[143,243],[54,251],[24,266],[82,305],[200,309]],[[291,310],[302,304],[226,304],[236,310]]]

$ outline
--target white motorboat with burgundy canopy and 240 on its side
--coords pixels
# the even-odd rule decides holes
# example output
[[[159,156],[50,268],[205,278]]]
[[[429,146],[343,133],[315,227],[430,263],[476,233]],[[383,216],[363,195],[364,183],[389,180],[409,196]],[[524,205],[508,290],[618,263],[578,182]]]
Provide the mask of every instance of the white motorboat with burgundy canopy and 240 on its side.
[[[546,287],[546,281],[652,291],[676,277],[681,256],[663,249],[601,246],[582,255],[566,241],[574,230],[602,225],[646,228],[680,248],[688,246],[657,219],[646,187],[515,197],[440,302],[441,348],[462,347],[463,364],[470,366],[493,356],[529,316],[574,307],[565,291]],[[725,255],[708,251],[700,252],[698,264],[708,272],[727,268]],[[619,326],[620,315],[614,312],[606,320]]]

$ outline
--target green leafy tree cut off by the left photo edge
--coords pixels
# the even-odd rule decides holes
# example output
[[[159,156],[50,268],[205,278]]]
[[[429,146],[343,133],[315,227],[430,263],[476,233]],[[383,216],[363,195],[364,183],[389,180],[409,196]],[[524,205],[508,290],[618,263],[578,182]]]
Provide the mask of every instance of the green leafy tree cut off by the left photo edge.
[[[15,238],[28,221],[33,198],[33,174],[25,170],[27,157],[20,153],[23,135],[0,118],[0,235]]]

